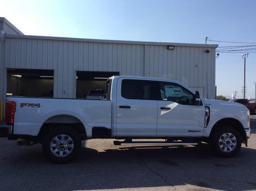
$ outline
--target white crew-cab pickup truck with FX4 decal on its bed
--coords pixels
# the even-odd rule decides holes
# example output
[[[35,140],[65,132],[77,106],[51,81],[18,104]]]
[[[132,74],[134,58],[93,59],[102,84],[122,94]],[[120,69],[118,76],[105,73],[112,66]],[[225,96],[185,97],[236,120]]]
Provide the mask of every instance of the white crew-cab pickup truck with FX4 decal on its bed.
[[[68,163],[81,141],[114,138],[122,144],[197,145],[207,142],[231,157],[250,137],[249,110],[242,104],[200,97],[172,79],[113,76],[104,100],[9,96],[0,135],[42,144],[53,163]],[[164,141],[136,141],[163,139]]]

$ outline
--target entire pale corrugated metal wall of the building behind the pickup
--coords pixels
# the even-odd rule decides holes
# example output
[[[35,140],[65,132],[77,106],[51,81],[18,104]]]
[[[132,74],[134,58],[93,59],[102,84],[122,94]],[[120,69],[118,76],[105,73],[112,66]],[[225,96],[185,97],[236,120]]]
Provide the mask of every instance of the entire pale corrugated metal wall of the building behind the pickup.
[[[53,69],[54,96],[74,98],[76,71],[172,78],[214,98],[215,48],[6,37],[4,67]],[[205,50],[210,53],[205,53]],[[208,86],[206,74],[208,75]],[[2,84],[3,78],[1,78]]]

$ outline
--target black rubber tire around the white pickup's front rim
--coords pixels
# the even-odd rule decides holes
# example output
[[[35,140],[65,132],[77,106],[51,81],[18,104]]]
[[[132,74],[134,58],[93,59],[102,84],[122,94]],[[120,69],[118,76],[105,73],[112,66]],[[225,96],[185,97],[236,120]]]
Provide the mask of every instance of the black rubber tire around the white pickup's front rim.
[[[234,148],[232,148],[233,149],[232,151],[230,151],[230,149],[229,149],[228,152],[224,151],[225,147],[222,145],[223,143],[220,142],[221,136],[226,133],[233,134],[236,138],[236,146]],[[239,152],[239,150],[241,148],[241,144],[242,144],[241,135],[239,134],[238,130],[236,130],[236,128],[231,127],[231,126],[223,125],[223,126],[214,128],[213,132],[210,135],[209,145],[210,145],[212,152],[216,156],[220,156],[220,157],[224,157],[224,158],[233,157]],[[228,150],[228,149],[226,149],[226,150]]]

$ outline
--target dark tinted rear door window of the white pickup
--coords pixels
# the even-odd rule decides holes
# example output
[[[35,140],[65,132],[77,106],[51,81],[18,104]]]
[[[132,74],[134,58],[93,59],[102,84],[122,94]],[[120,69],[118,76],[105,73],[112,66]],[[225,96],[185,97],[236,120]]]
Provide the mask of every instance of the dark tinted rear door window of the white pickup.
[[[154,100],[150,80],[122,80],[121,96],[126,99]]]

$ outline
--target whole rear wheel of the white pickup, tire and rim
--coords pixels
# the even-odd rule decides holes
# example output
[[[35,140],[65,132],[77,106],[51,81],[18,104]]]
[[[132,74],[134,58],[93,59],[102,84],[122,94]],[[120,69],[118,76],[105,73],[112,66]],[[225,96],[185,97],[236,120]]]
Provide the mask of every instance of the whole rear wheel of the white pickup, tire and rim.
[[[69,163],[79,154],[81,139],[72,128],[54,128],[44,137],[42,149],[52,163]]]

